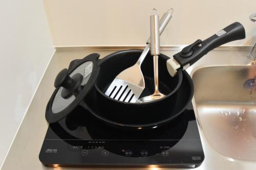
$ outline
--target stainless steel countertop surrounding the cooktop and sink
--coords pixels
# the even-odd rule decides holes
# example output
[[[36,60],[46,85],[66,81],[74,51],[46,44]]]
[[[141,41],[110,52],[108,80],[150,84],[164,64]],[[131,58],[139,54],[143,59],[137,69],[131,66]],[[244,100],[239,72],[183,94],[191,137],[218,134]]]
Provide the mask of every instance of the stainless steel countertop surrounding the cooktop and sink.
[[[51,167],[45,167],[38,159],[38,155],[41,149],[42,142],[44,141],[48,123],[45,119],[45,110],[50,99],[50,96],[54,90],[54,80],[58,72],[62,68],[67,68],[70,61],[74,59],[81,59],[91,53],[99,53],[101,57],[115,52],[115,50],[87,50],[85,48],[65,48],[63,50],[57,50],[45,72],[44,77],[35,93],[34,99],[26,113],[22,125],[20,126],[11,149],[5,159],[2,169],[52,169]],[[175,50],[163,50],[162,53],[167,56],[172,56],[177,51]],[[226,60],[220,62],[218,57],[228,56]],[[227,55],[223,55],[223,53]],[[198,61],[195,65],[187,69],[191,72],[199,67],[207,65],[245,65],[248,60],[245,55],[249,53],[248,48],[244,50],[214,50],[207,56]],[[236,58],[236,60],[234,60]],[[193,103],[194,104],[194,103]],[[194,105],[195,106],[195,105]],[[195,110],[196,111],[196,110]],[[196,112],[197,115],[197,112]],[[212,127],[214,128],[214,127]],[[199,128],[200,136],[202,139],[205,159],[201,166],[196,169],[256,169],[256,162],[246,162],[233,160],[227,158],[217,151],[212,149],[206,138]],[[82,168],[82,169],[91,169]],[[81,169],[70,167],[57,167],[55,169]],[[104,167],[94,169],[106,169]],[[115,168],[119,169],[119,168]],[[120,168],[121,169],[121,168]],[[122,168],[123,169],[123,168]],[[131,168],[127,168],[131,169]],[[148,168],[133,168],[133,169],[158,169],[157,167]],[[159,168],[161,169],[161,168]],[[163,168],[164,169],[164,168]]]

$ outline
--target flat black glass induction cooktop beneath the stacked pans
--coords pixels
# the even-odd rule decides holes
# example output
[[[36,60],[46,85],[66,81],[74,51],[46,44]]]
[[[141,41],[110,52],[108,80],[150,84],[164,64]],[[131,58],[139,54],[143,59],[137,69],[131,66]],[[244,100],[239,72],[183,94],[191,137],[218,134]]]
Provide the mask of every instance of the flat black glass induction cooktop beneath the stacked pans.
[[[39,154],[46,166],[197,167],[204,160],[193,107],[147,131],[104,125],[81,107],[50,124]]]

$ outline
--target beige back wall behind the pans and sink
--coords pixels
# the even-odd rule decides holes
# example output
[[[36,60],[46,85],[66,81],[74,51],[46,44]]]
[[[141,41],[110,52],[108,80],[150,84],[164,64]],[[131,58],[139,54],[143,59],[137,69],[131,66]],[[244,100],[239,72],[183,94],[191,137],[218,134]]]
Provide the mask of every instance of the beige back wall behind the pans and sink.
[[[234,21],[246,29],[246,40],[230,44],[252,45],[256,24],[255,0],[44,0],[55,46],[144,45],[150,35],[150,12],[174,8],[162,34],[162,45],[190,44]],[[253,42],[252,42],[253,41]]]

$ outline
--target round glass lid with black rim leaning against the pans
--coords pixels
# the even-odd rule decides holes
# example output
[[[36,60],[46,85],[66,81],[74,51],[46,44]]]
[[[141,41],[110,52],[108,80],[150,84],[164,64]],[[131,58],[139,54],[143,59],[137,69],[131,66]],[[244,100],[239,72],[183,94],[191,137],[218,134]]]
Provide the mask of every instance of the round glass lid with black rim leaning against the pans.
[[[92,89],[99,73],[99,54],[73,60],[55,79],[54,90],[46,109],[46,120],[58,122],[73,111]]]

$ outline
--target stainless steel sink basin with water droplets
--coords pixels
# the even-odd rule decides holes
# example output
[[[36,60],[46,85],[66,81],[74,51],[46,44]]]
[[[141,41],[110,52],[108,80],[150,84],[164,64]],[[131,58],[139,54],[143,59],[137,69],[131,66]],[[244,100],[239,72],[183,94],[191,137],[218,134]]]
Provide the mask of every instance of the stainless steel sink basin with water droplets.
[[[212,148],[256,161],[256,66],[212,66],[193,74],[199,125]],[[246,83],[245,83],[246,82]]]

